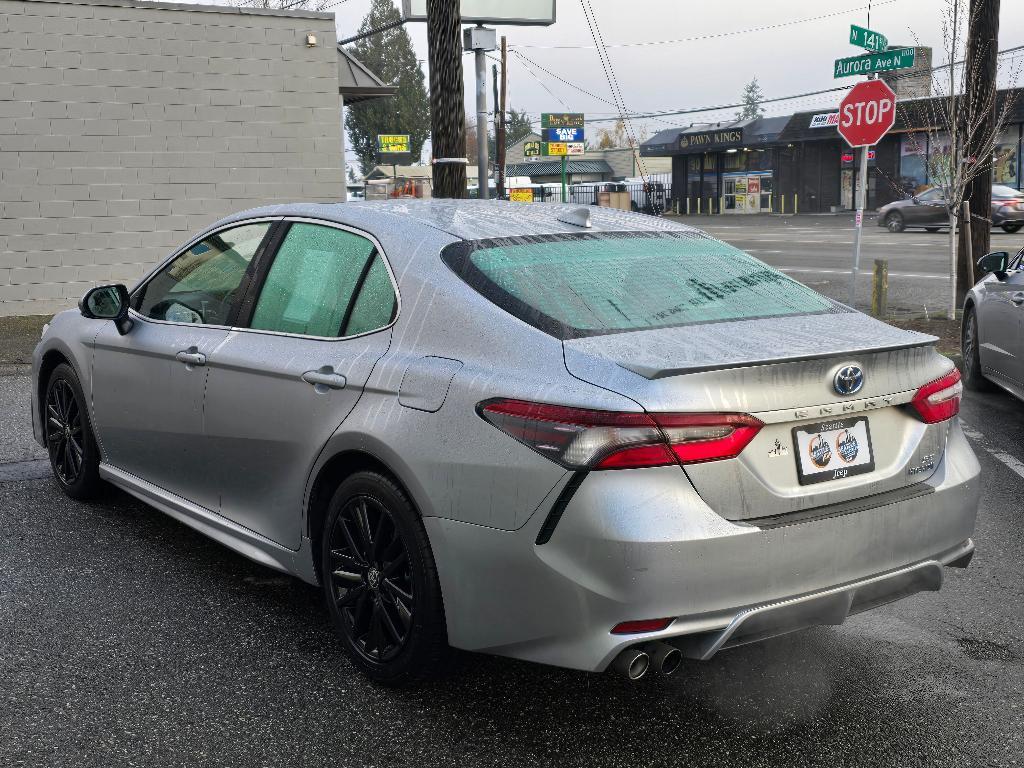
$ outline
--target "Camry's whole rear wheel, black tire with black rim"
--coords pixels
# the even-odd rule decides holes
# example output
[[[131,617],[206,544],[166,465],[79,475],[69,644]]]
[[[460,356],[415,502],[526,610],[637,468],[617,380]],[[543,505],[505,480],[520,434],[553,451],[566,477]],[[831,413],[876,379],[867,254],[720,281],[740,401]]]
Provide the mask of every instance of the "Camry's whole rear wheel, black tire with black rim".
[[[447,671],[444,605],[419,514],[390,477],[347,477],[328,507],[324,596],[352,664],[382,685],[412,686]]]

